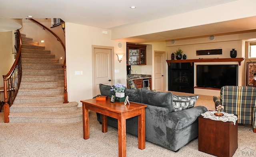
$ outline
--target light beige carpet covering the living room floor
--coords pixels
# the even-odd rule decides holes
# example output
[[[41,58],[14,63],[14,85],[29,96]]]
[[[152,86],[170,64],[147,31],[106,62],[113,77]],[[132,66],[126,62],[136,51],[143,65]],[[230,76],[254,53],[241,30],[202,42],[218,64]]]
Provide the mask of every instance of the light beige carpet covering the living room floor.
[[[211,109],[211,101],[200,99]],[[0,117],[3,112],[0,113]],[[101,132],[101,124],[96,113],[90,111],[90,138],[83,139],[83,124],[38,124],[38,123],[0,123],[0,157],[117,157],[118,131],[108,127]],[[221,128],[220,128],[221,129]],[[256,155],[256,133],[250,126],[238,128],[238,149],[234,157]],[[127,134],[127,157],[211,157],[198,151],[198,139],[182,147],[177,153],[146,141],[146,148],[138,149],[137,137]],[[217,151],[217,150],[216,150]],[[220,149],[221,151],[221,149]]]

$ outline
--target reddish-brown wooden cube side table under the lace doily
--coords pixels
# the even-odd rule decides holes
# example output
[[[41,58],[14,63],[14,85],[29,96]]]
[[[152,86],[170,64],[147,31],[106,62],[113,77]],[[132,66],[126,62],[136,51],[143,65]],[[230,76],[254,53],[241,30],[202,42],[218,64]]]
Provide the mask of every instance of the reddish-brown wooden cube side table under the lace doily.
[[[238,147],[237,121],[198,118],[198,150],[218,157],[232,157]]]

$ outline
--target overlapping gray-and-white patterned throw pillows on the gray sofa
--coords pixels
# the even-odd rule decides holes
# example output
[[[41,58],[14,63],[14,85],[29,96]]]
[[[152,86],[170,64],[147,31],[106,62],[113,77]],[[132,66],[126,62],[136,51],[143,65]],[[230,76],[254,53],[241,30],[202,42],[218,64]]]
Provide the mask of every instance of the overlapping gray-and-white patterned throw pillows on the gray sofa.
[[[187,108],[192,108],[196,104],[198,95],[195,96],[178,96],[172,95],[172,105],[174,111],[185,110]]]

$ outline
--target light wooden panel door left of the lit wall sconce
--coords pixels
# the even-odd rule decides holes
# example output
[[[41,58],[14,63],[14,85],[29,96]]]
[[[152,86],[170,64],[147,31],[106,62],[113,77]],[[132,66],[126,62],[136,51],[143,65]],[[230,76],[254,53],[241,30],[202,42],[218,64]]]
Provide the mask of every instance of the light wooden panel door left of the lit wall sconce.
[[[99,84],[113,85],[112,47],[93,47],[93,96],[100,94]]]

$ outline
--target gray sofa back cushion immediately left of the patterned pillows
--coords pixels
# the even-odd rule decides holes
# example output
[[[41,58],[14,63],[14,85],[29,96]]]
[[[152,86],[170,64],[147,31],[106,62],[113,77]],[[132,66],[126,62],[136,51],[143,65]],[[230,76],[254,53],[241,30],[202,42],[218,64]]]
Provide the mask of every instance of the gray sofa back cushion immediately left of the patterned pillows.
[[[169,112],[174,111],[172,107],[172,93],[170,92],[152,92],[142,88],[141,101],[143,104],[168,108]]]

